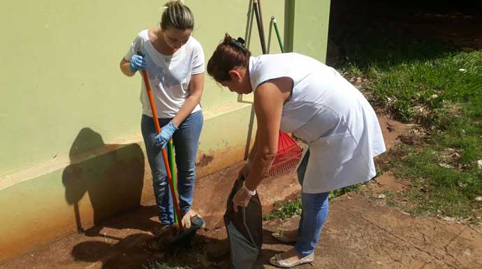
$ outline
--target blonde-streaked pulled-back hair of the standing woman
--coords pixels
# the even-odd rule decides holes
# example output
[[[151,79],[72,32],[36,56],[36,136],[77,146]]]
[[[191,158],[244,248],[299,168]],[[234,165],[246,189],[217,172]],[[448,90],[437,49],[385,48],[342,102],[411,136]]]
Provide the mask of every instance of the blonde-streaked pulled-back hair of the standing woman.
[[[164,4],[164,8],[161,17],[162,29],[168,29],[169,26],[181,30],[194,28],[193,13],[181,0],[168,1]]]

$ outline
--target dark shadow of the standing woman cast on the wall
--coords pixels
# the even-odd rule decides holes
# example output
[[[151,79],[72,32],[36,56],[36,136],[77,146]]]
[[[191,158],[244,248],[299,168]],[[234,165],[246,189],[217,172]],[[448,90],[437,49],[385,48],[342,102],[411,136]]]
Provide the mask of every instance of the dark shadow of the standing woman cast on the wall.
[[[138,144],[104,144],[101,134],[82,128],[69,157],[71,164],[62,174],[62,183],[79,232],[140,205],[144,155]],[[80,202],[86,193],[90,204]],[[93,218],[87,215],[92,211]]]

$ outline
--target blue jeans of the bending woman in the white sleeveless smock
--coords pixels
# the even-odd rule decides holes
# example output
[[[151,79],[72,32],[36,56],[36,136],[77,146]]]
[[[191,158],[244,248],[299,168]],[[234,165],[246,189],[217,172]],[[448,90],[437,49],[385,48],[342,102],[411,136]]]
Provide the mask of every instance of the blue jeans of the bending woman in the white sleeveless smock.
[[[298,180],[302,183],[308,164],[309,151],[305,154],[298,167]],[[302,255],[314,252],[318,243],[321,228],[328,217],[328,194],[322,192],[316,194],[301,193],[302,213],[298,224],[298,240],[295,251]]]

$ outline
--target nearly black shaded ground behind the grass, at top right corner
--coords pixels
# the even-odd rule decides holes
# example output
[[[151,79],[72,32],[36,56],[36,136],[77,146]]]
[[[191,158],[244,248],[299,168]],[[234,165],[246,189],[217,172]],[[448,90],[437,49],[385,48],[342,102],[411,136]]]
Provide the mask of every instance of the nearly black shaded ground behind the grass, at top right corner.
[[[481,1],[331,1],[329,66],[389,67],[482,49]]]

